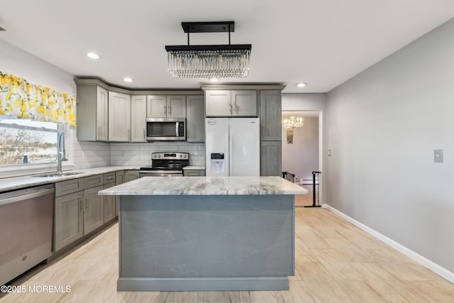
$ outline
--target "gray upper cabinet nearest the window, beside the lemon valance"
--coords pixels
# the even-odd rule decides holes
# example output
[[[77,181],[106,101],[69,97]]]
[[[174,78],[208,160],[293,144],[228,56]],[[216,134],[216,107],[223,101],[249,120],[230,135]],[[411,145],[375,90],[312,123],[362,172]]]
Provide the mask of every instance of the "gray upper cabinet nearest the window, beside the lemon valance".
[[[77,85],[77,139],[108,141],[108,92],[96,84]]]

